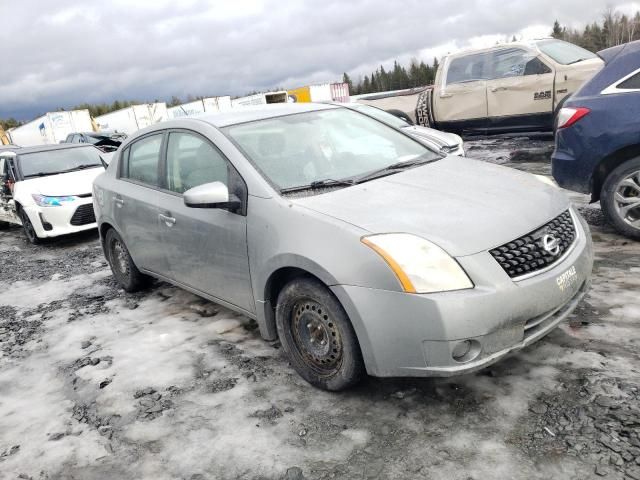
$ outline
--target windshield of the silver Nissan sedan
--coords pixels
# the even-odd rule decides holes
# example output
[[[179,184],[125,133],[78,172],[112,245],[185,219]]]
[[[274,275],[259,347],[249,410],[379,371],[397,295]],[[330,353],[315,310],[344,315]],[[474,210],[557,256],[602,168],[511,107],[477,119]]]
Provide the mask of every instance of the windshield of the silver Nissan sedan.
[[[411,137],[346,108],[269,118],[224,130],[281,190],[327,180],[335,184],[398,162],[442,158]]]

